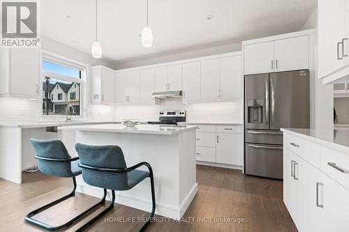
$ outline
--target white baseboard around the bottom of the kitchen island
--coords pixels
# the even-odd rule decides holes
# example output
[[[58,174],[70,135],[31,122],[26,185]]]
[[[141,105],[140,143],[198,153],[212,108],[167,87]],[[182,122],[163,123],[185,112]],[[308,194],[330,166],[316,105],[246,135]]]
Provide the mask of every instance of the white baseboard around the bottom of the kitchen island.
[[[76,191],[90,196],[95,196],[97,198],[101,198],[103,196],[103,190],[101,188],[90,185],[77,185]],[[185,197],[184,201],[181,202],[179,207],[168,206],[163,203],[156,202],[155,214],[172,219],[180,219],[181,217],[183,217],[197,192],[198,183],[195,183],[195,185],[192,187],[191,191],[188,192],[187,196]],[[111,199],[111,192],[108,191],[107,200],[110,201]],[[135,196],[126,195],[122,192],[116,192],[115,203],[151,212],[151,201],[147,199],[140,199]]]

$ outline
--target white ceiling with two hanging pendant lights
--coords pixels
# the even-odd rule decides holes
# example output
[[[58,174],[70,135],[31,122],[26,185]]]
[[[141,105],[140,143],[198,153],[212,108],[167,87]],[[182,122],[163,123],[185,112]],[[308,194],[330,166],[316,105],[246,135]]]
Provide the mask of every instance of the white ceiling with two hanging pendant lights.
[[[139,35],[146,24],[147,1],[98,0],[98,40],[104,59],[133,61],[297,31],[315,6],[316,0],[149,0],[154,44],[144,48]],[[40,12],[43,36],[90,53],[94,0],[40,1]],[[208,15],[213,19],[207,20]]]

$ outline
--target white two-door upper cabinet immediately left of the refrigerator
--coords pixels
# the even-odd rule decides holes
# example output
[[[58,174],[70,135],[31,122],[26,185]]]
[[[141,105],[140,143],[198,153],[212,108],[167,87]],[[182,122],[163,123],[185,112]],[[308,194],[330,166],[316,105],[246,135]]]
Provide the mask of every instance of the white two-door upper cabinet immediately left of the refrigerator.
[[[201,100],[241,100],[241,55],[201,61]]]

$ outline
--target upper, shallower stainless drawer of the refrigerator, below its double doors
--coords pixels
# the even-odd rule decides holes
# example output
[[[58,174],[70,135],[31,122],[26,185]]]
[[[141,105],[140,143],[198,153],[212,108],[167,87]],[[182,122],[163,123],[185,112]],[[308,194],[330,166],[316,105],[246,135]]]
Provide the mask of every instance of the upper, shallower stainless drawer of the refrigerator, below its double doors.
[[[283,145],[280,130],[246,130],[246,143]]]

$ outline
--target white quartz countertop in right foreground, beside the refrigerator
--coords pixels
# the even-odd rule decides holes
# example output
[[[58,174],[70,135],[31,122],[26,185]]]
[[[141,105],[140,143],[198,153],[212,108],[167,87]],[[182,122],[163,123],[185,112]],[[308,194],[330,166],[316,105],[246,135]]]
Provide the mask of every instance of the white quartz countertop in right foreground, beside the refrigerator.
[[[349,129],[341,130],[314,130],[314,129],[281,129],[297,137],[313,141],[316,144],[339,150],[349,154]]]

